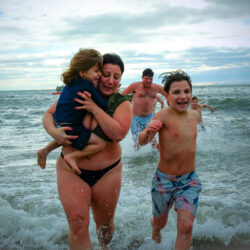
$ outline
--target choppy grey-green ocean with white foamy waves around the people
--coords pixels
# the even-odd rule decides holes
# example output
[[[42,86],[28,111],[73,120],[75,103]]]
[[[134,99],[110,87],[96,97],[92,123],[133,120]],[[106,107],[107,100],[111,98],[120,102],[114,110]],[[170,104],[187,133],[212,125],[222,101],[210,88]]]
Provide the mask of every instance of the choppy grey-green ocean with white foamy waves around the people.
[[[68,224],[57,194],[56,158],[47,167],[36,151],[51,138],[42,126],[53,90],[0,91],[0,249],[68,249]],[[203,184],[193,228],[192,249],[250,249],[250,85],[193,86],[206,132],[197,137],[196,171]],[[158,104],[157,104],[158,105]],[[159,106],[156,107],[159,110]],[[129,132],[121,142],[123,179],[111,250],[174,249],[176,213],[151,240],[150,187],[158,152],[150,145],[134,152]],[[90,236],[98,249],[91,215]]]

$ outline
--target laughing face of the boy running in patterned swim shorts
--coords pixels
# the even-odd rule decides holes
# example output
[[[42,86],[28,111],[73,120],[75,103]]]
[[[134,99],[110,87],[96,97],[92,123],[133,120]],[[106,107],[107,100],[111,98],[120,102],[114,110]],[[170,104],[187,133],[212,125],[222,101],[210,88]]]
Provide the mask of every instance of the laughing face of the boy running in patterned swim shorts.
[[[171,84],[168,93],[169,106],[178,112],[188,110],[192,99],[192,91],[186,80],[176,81]]]

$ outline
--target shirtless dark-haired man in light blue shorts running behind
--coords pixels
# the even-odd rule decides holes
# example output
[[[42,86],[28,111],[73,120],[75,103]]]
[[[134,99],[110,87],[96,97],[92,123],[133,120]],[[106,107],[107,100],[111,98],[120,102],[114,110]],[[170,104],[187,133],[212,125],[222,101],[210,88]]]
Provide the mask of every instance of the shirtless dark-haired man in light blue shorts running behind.
[[[138,135],[153,118],[156,102],[159,101],[159,96],[157,96],[157,94],[166,95],[162,86],[152,83],[153,76],[154,72],[152,69],[145,69],[142,72],[142,81],[130,84],[122,92],[123,95],[134,93],[131,132],[134,140],[134,148],[136,150],[140,149]],[[156,147],[155,139],[152,141],[152,146]]]

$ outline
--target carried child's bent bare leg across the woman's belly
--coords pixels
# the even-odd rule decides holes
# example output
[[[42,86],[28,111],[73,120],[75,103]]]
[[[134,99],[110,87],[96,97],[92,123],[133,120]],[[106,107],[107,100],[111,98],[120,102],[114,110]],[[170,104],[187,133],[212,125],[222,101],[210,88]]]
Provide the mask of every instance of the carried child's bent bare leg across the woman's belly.
[[[96,154],[97,152],[101,151],[105,145],[106,142],[103,139],[94,133],[91,133],[88,145],[83,150],[76,150],[65,155],[64,160],[72,167],[74,172],[81,174],[81,171],[77,166],[77,160],[82,157]]]

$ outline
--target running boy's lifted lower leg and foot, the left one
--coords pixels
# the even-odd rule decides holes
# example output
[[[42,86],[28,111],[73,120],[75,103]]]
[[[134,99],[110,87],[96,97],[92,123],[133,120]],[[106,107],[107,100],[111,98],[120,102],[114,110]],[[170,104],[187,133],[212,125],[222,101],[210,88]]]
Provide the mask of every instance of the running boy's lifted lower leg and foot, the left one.
[[[153,216],[150,219],[150,223],[152,225],[152,240],[155,243],[161,243],[161,229],[166,226],[168,219],[168,214],[160,217]]]

